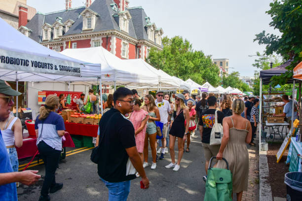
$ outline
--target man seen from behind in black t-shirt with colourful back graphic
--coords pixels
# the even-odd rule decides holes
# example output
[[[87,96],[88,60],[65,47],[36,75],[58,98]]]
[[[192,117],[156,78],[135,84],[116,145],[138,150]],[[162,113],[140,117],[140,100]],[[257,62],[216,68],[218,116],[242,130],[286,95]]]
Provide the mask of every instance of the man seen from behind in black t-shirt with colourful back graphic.
[[[200,125],[199,132],[201,136],[202,147],[204,150],[204,158],[206,160],[205,170],[206,173],[208,174],[208,166],[210,163],[210,159],[218,154],[218,151],[220,149],[220,144],[210,145],[212,128],[216,123],[215,111],[216,111],[216,107],[218,106],[217,99],[212,96],[209,97],[207,101],[208,101],[209,109],[203,111],[203,113],[199,118],[199,125]],[[222,113],[221,111],[217,111],[218,123],[222,124],[224,118],[225,118],[224,113]]]

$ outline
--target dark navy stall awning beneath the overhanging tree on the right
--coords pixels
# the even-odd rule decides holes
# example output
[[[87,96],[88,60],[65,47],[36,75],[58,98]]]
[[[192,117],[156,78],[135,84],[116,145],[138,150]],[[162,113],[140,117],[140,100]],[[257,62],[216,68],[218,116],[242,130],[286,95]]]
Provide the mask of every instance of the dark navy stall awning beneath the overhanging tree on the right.
[[[267,70],[261,70],[259,77],[262,78],[263,84],[269,84],[272,76],[281,75],[285,73],[286,71],[288,71],[286,67],[288,67],[289,65],[291,65],[290,60],[278,67],[273,67]],[[288,83],[293,83],[293,81],[289,80]]]

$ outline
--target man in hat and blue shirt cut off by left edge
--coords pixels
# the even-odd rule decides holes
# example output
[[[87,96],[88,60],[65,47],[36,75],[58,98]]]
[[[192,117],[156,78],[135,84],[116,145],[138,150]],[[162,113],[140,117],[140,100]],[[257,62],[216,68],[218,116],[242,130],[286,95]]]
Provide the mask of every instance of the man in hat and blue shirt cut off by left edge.
[[[0,121],[9,117],[14,104],[13,97],[21,93],[13,90],[9,84],[0,80]],[[17,188],[15,182],[32,185],[41,177],[36,174],[38,170],[13,172],[8,153],[0,132],[0,201],[17,201]]]

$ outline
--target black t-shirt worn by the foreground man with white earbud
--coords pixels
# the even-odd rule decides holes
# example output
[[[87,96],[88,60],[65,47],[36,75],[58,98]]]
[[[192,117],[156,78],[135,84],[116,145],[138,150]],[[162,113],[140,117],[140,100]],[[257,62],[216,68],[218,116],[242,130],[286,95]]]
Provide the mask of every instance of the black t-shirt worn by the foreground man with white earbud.
[[[108,182],[121,182],[136,178],[135,172],[126,175],[127,163],[131,162],[125,149],[136,146],[132,123],[117,109],[112,108],[102,116],[99,125],[99,176]],[[104,135],[103,138],[102,135]]]

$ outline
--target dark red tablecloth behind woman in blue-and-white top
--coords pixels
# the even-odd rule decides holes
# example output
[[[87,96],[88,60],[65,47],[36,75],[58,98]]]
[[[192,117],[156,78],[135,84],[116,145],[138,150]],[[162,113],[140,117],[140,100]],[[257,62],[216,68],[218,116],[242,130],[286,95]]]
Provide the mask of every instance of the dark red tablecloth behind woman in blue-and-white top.
[[[66,138],[66,141],[63,143],[63,147],[75,147],[75,143],[71,138],[70,134],[68,132],[65,132],[64,136]],[[24,135],[23,136],[24,141],[22,147],[20,148],[16,147],[18,153],[18,159],[34,156],[38,151],[38,147],[36,145],[37,138],[28,139],[29,137],[33,137],[33,136]]]

